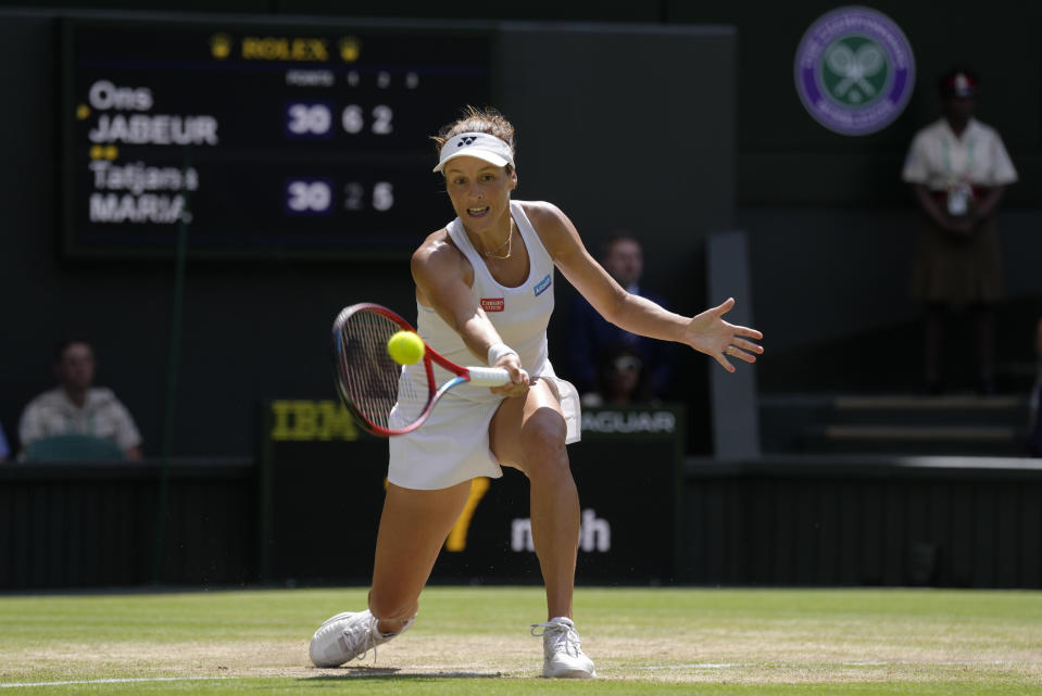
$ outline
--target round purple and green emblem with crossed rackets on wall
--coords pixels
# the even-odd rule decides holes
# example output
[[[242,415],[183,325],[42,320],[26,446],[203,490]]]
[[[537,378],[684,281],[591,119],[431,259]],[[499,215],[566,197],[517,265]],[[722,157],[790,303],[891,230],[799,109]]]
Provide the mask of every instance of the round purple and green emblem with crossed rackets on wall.
[[[818,18],[800,42],[795,81],[807,112],[829,130],[875,132],[901,115],[915,84],[912,47],[901,28],[868,8]]]

